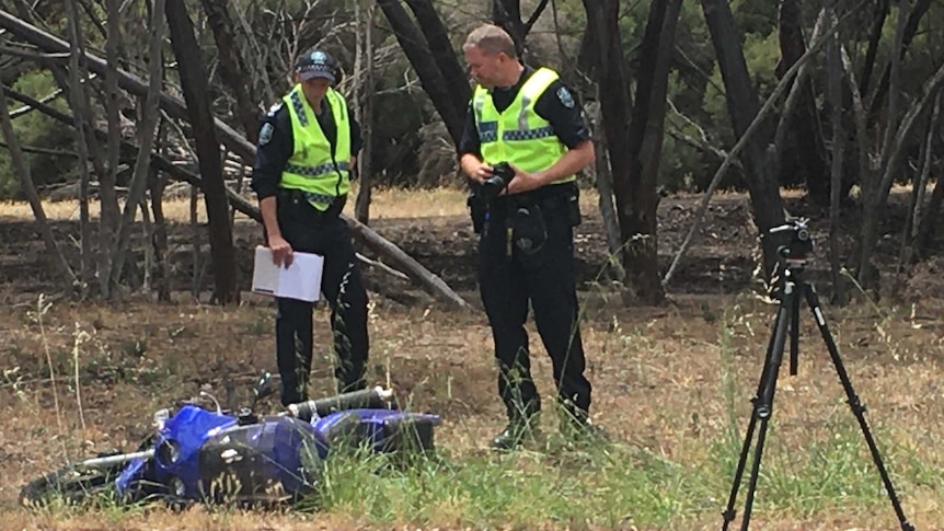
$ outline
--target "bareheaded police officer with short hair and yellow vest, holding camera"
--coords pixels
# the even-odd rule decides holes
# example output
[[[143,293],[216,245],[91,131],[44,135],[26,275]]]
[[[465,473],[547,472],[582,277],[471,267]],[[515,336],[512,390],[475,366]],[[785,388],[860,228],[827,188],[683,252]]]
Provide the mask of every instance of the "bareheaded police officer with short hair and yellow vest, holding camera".
[[[504,30],[474,30],[463,51],[477,86],[458,149],[462,170],[473,189],[481,187],[480,200],[483,183],[500,176],[499,163],[511,170],[500,195],[483,205],[487,220],[479,247],[480,291],[509,420],[492,447],[520,445],[541,409],[523,326],[529,301],[552,360],[564,432],[603,435],[588,419],[591,385],[584,376],[574,273],[575,174],[594,160],[594,145],[557,73],[523,66]]]

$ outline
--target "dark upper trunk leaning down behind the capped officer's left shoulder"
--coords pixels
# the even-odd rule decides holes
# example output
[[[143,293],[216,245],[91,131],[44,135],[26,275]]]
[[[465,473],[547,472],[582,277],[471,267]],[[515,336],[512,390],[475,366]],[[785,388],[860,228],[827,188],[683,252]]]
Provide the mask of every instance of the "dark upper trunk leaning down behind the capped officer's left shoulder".
[[[227,0],[200,0],[207,15],[207,22],[214,33],[214,41],[217,43],[220,78],[235,96],[233,116],[242,125],[246,139],[256,143],[258,140],[258,117],[255,112],[256,106],[253,105],[249,93],[251,81],[246,76],[249,69],[245,67],[233,38],[233,23],[227,3]],[[251,164],[252,161],[247,161],[247,163]]]

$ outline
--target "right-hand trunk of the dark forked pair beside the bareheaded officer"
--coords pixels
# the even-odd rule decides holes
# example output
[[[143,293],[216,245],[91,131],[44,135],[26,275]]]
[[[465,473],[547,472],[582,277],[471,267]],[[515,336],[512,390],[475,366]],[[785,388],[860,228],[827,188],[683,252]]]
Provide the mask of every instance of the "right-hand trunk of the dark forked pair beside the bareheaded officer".
[[[681,0],[653,0],[640,45],[640,77],[630,122],[630,175],[633,235],[626,243],[625,266],[638,300],[657,304],[664,299],[658,261],[658,175],[666,122],[669,66]]]

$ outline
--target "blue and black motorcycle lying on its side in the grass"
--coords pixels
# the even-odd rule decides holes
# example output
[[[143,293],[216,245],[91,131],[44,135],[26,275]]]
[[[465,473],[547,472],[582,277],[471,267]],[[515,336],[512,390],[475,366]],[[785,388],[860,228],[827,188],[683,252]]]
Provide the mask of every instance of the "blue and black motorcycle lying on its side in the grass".
[[[27,483],[20,501],[82,503],[105,495],[120,503],[291,503],[315,492],[325,460],[342,448],[390,454],[434,450],[440,418],[400,411],[390,389],[310,400],[260,416],[253,409],[273,394],[270,379],[265,373],[252,405],[237,412],[222,409],[205,392],[215,409],[195,402],[173,413],[160,409],[154,431],[138,451],[71,463]]]

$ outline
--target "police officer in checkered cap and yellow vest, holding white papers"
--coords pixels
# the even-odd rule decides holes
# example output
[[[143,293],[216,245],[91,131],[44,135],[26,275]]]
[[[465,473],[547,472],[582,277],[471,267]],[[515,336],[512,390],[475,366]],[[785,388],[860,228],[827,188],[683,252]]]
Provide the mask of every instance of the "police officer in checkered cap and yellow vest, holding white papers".
[[[262,120],[252,188],[260,201],[266,244],[276,265],[292,252],[324,257],[321,291],[331,307],[338,391],[365,386],[368,357],[367,292],[347,223],[338,216],[361,147],[360,129],[332,85],[341,76],[324,51],[302,54],[295,85]],[[312,304],[278,298],[276,359],[281,402],[308,400],[312,358]]]

